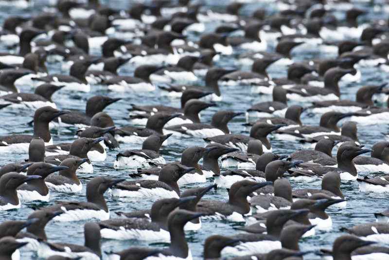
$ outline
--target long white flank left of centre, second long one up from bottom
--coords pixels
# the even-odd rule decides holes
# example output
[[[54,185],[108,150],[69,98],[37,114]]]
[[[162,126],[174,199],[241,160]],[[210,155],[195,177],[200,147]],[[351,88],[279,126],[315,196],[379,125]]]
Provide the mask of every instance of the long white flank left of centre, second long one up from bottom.
[[[133,198],[179,198],[178,194],[174,190],[167,190],[164,188],[140,188],[137,191],[123,190],[112,188],[112,196],[115,197],[133,197]]]

